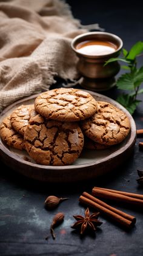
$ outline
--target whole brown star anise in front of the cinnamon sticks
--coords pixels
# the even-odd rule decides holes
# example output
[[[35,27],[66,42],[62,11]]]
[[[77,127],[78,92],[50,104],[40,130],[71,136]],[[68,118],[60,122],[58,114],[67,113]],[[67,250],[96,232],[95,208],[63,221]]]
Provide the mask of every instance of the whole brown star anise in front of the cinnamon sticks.
[[[85,229],[90,228],[91,230],[96,230],[97,226],[101,226],[102,222],[98,221],[99,212],[92,213],[90,215],[90,211],[87,208],[85,210],[85,217],[81,215],[73,216],[77,221],[73,226],[73,229],[78,229],[81,227],[81,235],[84,233]]]

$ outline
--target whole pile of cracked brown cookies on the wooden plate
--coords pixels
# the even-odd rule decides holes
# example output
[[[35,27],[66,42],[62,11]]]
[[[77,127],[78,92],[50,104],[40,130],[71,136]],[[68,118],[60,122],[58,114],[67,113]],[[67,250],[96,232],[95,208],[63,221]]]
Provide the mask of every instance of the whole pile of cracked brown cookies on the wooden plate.
[[[2,140],[26,149],[38,164],[69,165],[83,148],[102,150],[127,137],[130,120],[107,102],[79,89],[53,89],[35,105],[22,105],[1,123]]]

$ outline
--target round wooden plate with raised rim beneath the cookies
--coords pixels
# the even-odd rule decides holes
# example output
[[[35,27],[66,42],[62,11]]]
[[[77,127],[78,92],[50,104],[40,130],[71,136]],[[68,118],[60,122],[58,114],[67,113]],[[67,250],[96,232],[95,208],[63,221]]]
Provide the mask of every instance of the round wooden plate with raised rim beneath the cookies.
[[[122,164],[125,159],[130,156],[136,142],[135,122],[129,112],[119,103],[115,102],[115,100],[96,92],[88,92],[90,92],[96,100],[110,102],[119,109],[122,109],[129,117],[131,131],[121,144],[106,150],[83,150],[80,157],[73,165],[55,167],[36,164],[30,159],[26,151],[19,151],[15,148],[7,147],[7,145],[0,140],[0,156],[2,161],[8,165],[8,167],[22,173],[22,175],[47,182],[73,182],[96,178],[97,176],[104,175],[108,171],[113,170],[119,164]],[[1,113],[0,122],[19,105],[33,103],[37,96],[38,94],[27,97],[8,106],[8,108]]]

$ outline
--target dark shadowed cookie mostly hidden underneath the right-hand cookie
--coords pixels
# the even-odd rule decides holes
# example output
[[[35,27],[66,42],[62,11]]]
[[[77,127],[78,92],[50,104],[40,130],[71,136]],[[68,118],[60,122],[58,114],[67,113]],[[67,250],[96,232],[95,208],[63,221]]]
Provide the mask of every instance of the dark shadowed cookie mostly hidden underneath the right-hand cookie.
[[[84,136],[84,148],[87,150],[105,150],[106,148],[111,147],[110,145],[99,144],[94,140],[89,139],[87,136]]]

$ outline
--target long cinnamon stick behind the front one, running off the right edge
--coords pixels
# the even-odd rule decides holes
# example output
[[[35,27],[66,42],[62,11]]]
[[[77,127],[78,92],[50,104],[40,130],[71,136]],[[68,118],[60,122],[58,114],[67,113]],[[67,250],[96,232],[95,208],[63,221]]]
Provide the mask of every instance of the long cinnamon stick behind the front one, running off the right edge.
[[[107,190],[93,188],[92,195],[106,199],[113,199],[115,201],[127,202],[130,204],[134,204],[135,206],[143,207],[143,200],[141,199],[131,198],[130,196],[124,196],[118,193],[109,192]]]

